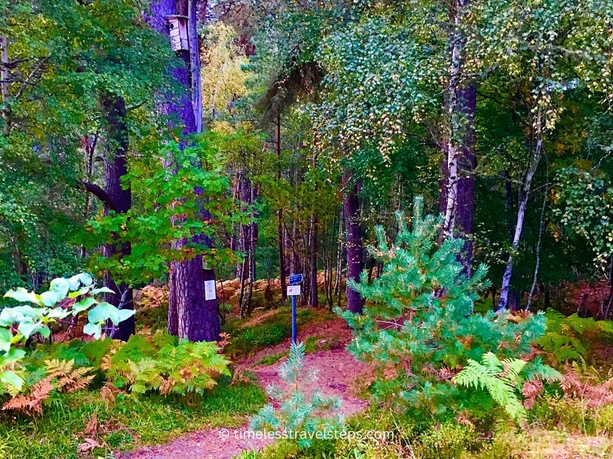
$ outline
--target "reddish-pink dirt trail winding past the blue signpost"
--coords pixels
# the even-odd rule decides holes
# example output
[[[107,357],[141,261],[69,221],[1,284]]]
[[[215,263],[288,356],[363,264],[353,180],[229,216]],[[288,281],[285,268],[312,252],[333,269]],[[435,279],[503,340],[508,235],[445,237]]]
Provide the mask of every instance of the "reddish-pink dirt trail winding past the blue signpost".
[[[344,321],[333,320],[324,324],[313,324],[299,333],[298,339],[305,341],[308,337],[321,336],[322,332],[326,333],[324,336],[336,338],[334,348],[307,354],[304,367],[319,369],[317,384],[321,391],[325,395],[341,397],[343,405],[340,411],[345,416],[351,416],[367,408],[367,401],[357,397],[355,392],[356,383],[360,380],[361,375],[367,374],[368,367],[356,362],[354,357],[345,350],[346,343],[351,339],[351,332]],[[256,362],[262,357],[289,349],[289,344],[288,339],[278,345],[262,349],[255,356],[238,362],[237,371],[248,370],[254,373],[259,384],[264,388],[268,384],[276,384],[283,389],[283,383],[277,375],[277,370],[284,359],[273,365],[256,365]],[[166,444],[121,453],[117,457],[118,459],[229,459],[244,450],[257,451],[272,443],[270,439],[244,438],[248,431],[248,423],[238,428],[209,428],[189,433]],[[243,433],[243,438],[240,438],[241,433]],[[226,434],[228,437],[222,438]]]

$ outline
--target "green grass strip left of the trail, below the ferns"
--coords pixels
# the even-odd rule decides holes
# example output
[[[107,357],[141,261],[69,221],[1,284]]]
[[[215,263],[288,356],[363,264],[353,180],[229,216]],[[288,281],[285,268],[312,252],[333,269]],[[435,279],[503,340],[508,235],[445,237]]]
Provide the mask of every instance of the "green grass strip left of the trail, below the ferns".
[[[94,413],[99,423],[97,441],[106,446],[94,450],[94,457],[104,457],[112,450],[159,444],[189,431],[239,427],[265,402],[260,387],[229,385],[228,380],[191,402],[183,397],[148,394],[118,400],[107,408],[99,392],[75,392],[52,401],[42,416],[2,412],[0,458],[78,458],[83,430]]]

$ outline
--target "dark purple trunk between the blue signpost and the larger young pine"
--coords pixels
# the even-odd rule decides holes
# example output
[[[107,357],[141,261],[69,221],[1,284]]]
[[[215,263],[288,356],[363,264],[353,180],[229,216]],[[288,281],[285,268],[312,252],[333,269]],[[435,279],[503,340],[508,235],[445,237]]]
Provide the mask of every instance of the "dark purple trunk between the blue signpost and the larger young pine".
[[[351,172],[343,174],[343,213],[345,214],[347,280],[360,282],[364,269],[364,247],[362,247],[362,224],[360,223],[360,201],[357,196],[359,185],[352,181]],[[346,288],[347,309],[353,313],[362,313],[364,300],[349,284]]]

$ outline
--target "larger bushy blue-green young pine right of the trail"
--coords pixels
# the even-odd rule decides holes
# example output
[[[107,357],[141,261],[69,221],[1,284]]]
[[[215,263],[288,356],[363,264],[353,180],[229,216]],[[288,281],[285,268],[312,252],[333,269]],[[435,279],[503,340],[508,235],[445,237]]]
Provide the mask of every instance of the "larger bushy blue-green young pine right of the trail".
[[[448,419],[465,409],[480,417],[492,409],[488,392],[452,384],[452,378],[490,352],[506,362],[527,361],[545,319],[540,314],[473,313],[477,293],[487,285],[486,268],[479,266],[473,277],[465,277],[457,259],[463,241],[437,245],[440,225],[440,218],[422,215],[417,199],[410,229],[398,215],[392,245],[383,228],[376,228],[378,247],[370,252],[383,262],[383,272],[371,283],[366,272],[360,283],[349,283],[367,300],[364,315],[337,312],[354,329],[349,352],[376,368],[371,390],[379,400],[398,410],[410,406],[426,418]],[[530,365],[526,379],[554,376],[540,360]],[[501,373],[497,368],[492,375]]]

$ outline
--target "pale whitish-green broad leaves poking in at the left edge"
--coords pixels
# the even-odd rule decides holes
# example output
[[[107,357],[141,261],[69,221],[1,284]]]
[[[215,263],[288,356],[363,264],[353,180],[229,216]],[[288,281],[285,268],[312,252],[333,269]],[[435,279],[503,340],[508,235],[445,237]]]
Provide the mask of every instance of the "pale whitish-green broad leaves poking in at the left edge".
[[[55,278],[50,283],[50,289],[41,294],[25,288],[9,290],[4,297],[27,304],[6,307],[0,312],[0,394],[14,397],[24,387],[39,383],[39,379],[42,379],[42,375],[39,375],[32,381],[33,375],[38,373],[34,371],[29,375],[21,365],[27,354],[23,346],[35,335],[41,340],[47,339],[51,335],[51,327],[88,311],[83,332],[99,339],[107,321],[117,325],[134,314],[133,310],[118,310],[112,304],[96,300],[95,295],[107,292],[112,293],[105,287],[94,288],[93,278],[87,273]],[[49,368],[49,371],[48,378],[55,378],[52,375],[56,368]],[[30,383],[26,384],[26,381]]]

